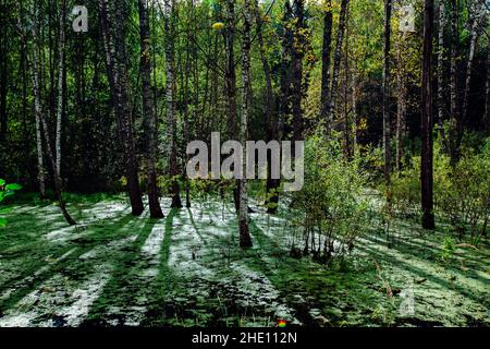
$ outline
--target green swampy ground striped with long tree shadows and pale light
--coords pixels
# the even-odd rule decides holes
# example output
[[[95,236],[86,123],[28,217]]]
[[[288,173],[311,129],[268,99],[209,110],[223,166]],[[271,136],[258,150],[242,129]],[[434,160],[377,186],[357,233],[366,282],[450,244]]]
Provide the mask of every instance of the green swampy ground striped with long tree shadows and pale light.
[[[218,200],[150,219],[147,212],[133,217],[123,196],[71,196],[75,227],[54,204],[19,200],[7,214],[0,327],[273,326],[279,318],[490,326],[488,241],[462,245],[443,263],[443,232],[400,220],[390,248],[373,227],[342,263],[324,267],[291,257],[289,222],[257,205],[254,248],[241,250],[232,205]]]

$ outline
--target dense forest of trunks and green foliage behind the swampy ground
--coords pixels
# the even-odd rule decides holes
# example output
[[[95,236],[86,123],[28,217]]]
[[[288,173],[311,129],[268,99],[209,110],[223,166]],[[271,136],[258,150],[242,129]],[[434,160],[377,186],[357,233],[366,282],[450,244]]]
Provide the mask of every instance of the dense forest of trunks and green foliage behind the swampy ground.
[[[391,249],[400,221],[442,233],[427,238],[438,261],[487,253],[488,14],[485,0],[0,0],[1,198],[54,202],[75,227],[100,193],[127,193],[136,217],[232,203],[235,244],[264,242],[254,215],[279,215],[289,255],[322,265],[370,229]],[[270,178],[271,155],[267,179],[188,178],[186,146],[211,132],[305,141],[303,189]]]

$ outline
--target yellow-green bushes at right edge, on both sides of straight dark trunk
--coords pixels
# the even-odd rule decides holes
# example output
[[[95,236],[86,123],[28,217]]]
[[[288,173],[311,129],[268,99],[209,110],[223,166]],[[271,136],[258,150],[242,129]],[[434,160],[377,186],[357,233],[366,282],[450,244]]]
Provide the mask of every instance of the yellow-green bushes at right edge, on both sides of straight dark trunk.
[[[448,218],[462,237],[469,230],[471,238],[485,234],[490,207],[490,141],[480,152],[466,148],[457,164],[436,145],[433,156],[434,209]],[[419,215],[420,157],[392,178],[392,203],[399,214]]]

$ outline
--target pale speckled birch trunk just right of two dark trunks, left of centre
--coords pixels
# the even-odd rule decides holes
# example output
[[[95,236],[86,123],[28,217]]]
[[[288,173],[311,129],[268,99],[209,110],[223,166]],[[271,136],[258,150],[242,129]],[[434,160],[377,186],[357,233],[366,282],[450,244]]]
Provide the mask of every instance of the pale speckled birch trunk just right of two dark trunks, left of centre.
[[[172,208],[181,208],[181,194],[176,177],[177,155],[175,146],[176,111],[175,111],[175,44],[174,44],[174,11],[175,1],[164,3],[164,29],[166,29],[166,61],[167,61],[167,155],[169,158],[169,176],[171,177]]]

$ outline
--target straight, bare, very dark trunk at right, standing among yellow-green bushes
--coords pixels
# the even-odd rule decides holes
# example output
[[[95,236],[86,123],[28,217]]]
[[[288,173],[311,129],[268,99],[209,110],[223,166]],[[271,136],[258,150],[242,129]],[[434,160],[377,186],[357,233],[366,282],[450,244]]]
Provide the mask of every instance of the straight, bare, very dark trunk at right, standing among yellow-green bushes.
[[[432,173],[432,33],[433,33],[433,0],[425,0],[424,10],[424,60],[421,82],[421,208],[422,227],[434,229],[433,217],[433,173]]]

